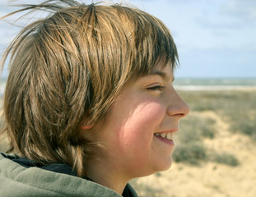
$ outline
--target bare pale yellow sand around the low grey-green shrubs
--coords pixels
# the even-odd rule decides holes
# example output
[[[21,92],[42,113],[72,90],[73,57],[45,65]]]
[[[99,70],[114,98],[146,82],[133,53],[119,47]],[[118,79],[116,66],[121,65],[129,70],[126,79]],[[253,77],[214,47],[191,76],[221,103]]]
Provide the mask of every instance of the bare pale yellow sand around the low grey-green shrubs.
[[[231,134],[229,126],[214,112],[202,112],[201,115],[214,117],[219,128],[213,140],[205,140],[207,148],[234,153],[240,165],[230,167],[206,161],[195,167],[173,163],[166,172],[133,181],[140,196],[256,196],[256,145],[249,136]]]

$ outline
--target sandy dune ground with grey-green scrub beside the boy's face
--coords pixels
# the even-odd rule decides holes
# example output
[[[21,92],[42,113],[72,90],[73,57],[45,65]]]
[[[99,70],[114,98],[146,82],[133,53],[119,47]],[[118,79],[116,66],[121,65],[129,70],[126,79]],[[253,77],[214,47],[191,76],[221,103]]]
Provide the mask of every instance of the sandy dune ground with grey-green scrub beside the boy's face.
[[[167,172],[132,181],[142,197],[256,196],[256,91],[183,91],[181,121]]]

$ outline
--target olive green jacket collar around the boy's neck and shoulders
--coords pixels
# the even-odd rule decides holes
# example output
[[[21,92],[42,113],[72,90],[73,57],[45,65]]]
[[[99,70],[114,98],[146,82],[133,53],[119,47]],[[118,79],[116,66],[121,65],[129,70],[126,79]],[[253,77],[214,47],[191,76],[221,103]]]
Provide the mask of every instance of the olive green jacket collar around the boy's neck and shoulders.
[[[137,197],[127,185],[130,197]],[[0,153],[0,197],[120,197],[121,195],[77,176],[51,172],[40,167],[23,167]]]

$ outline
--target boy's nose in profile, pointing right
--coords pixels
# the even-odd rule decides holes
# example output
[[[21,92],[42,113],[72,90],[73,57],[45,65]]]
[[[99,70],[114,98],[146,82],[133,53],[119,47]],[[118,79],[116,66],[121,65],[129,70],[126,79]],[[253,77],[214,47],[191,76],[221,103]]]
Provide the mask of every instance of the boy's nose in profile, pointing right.
[[[190,112],[189,105],[184,102],[175,89],[173,89],[171,93],[169,103],[167,108],[168,116],[177,116],[181,118],[187,116]]]

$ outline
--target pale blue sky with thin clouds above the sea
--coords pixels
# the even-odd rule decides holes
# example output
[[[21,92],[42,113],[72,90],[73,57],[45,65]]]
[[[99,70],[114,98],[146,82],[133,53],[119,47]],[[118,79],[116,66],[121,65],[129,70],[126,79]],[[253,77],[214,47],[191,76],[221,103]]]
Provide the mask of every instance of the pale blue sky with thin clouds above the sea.
[[[7,7],[7,2],[10,1],[0,0],[0,16],[15,9]],[[175,39],[179,52],[180,67],[175,72],[175,77],[256,78],[256,0],[112,2],[124,2],[138,7],[165,23]],[[0,21],[1,53],[12,41],[17,30],[7,22]]]

